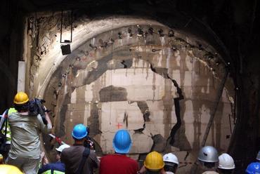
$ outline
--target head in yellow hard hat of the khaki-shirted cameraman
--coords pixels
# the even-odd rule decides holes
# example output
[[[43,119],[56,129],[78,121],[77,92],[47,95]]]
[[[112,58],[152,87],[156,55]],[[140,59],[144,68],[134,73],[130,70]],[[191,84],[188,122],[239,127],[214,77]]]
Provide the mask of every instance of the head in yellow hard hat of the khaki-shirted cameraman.
[[[29,97],[24,92],[18,92],[15,95],[15,98],[13,100],[15,109],[18,112],[27,112],[29,111]]]

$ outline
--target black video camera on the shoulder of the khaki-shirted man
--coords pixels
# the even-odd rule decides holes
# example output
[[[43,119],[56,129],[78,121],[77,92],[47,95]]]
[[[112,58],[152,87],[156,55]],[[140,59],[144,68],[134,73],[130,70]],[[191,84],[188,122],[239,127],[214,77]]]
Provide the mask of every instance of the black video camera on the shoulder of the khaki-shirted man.
[[[41,115],[41,119],[44,122],[44,124],[47,124],[45,112],[47,110],[45,109],[44,105],[42,105],[45,102],[43,99],[34,98],[33,100],[29,101],[29,112],[32,116],[37,116],[38,114]]]

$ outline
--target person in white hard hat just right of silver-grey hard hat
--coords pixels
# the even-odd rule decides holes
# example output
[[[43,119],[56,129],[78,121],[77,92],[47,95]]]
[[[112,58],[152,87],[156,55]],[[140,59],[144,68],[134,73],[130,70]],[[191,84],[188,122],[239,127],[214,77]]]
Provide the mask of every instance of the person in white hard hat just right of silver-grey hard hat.
[[[235,163],[232,156],[225,153],[219,156],[219,167],[218,167],[219,173],[221,174],[233,173],[234,168],[235,168]]]

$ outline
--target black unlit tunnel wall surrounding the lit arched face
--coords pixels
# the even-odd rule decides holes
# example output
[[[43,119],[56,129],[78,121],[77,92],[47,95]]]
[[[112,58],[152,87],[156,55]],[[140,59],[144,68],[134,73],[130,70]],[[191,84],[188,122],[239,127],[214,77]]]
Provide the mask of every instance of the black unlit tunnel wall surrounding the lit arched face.
[[[13,2],[12,6],[10,6],[11,2]],[[113,15],[115,13],[149,15],[154,19],[156,18],[157,21],[167,24],[171,28],[182,27],[183,29],[200,33],[199,35],[202,37],[206,36],[207,41],[211,41],[212,46],[218,48],[218,51],[221,52],[223,58],[225,58],[225,55],[228,57],[228,53],[223,49],[223,44],[221,44],[218,37],[220,37],[227,46],[232,59],[225,58],[225,60],[226,62],[230,61],[230,65],[232,66],[230,72],[233,74],[233,79],[235,79],[237,88],[237,112],[235,116],[238,118],[235,136],[233,136],[233,143],[230,145],[229,152],[235,158],[237,169],[240,172],[244,171],[247,164],[255,159],[255,154],[259,150],[258,147],[260,142],[259,109],[257,109],[259,108],[259,49],[257,47],[259,29],[256,27],[259,18],[257,14],[255,15],[255,13],[259,11],[259,6],[255,8],[256,1],[240,1],[239,3],[237,1],[208,1],[207,3],[193,3],[192,1],[119,0],[117,1],[117,5],[113,4],[115,1],[112,1],[112,3],[111,1],[102,1],[102,3],[92,1],[91,4],[87,3],[87,6],[85,2],[76,3],[74,1],[71,4],[67,4],[67,2],[63,1],[63,3],[58,3],[54,6],[53,1],[48,3],[43,1],[42,4],[41,1],[34,1],[34,3],[37,2],[37,6],[32,6],[32,1],[19,1],[19,4],[17,4],[17,2],[18,1],[1,1],[2,25],[0,29],[0,50],[1,61],[4,62],[4,64],[1,62],[1,72],[4,72],[4,76],[1,76],[0,78],[1,82],[6,84],[1,86],[2,109],[5,109],[12,104],[13,95],[15,95],[16,84],[13,84],[17,79],[15,75],[17,74],[17,60],[33,60],[30,54],[23,56],[22,58],[22,55],[18,53],[19,51],[15,51],[16,48],[20,49],[20,41],[22,41],[20,29],[22,29],[23,25],[27,26],[25,23],[18,25],[19,22],[22,22],[22,20],[19,19],[24,15],[20,13],[20,10],[31,11],[31,17],[37,18],[38,15],[39,24],[44,22],[43,19],[46,17],[53,18],[53,14],[55,15],[56,13],[53,13],[52,11],[59,11],[61,8],[84,8],[84,13],[86,12],[89,16],[97,15],[97,13],[105,15]],[[214,6],[211,5],[212,3]],[[48,6],[45,6],[45,4],[48,4]],[[44,12],[39,14],[38,12],[49,11],[50,9],[52,10],[51,13]],[[176,13],[182,13],[182,15],[186,13],[186,17],[182,18],[181,15]],[[202,22],[196,23],[196,18],[200,18],[206,25],[202,27]],[[190,25],[196,25],[197,27],[195,28],[197,29],[190,27]],[[37,25],[31,27],[35,28]],[[26,33],[30,33],[31,27],[28,27],[28,31],[25,29],[25,39],[27,39]],[[208,32],[211,29],[216,32],[217,36],[216,34],[212,34],[212,32]],[[13,36],[11,36],[12,32],[14,32]],[[55,34],[52,36],[55,36]],[[37,37],[35,40],[38,39],[41,39],[41,36]],[[12,46],[10,46],[10,41],[12,42]],[[28,44],[29,43],[30,42],[28,42]],[[13,45],[17,47],[14,48]],[[36,48],[38,45],[29,44],[26,46],[25,50],[31,46],[32,48]],[[27,68],[30,69],[32,65],[31,62],[29,65],[30,66]],[[9,73],[10,76],[8,75],[8,78],[5,77],[5,74],[8,71],[3,70],[4,68],[11,70],[11,74]],[[27,74],[29,73],[27,72]],[[27,76],[27,82],[30,81],[28,79],[30,78]],[[28,86],[29,83],[27,83],[27,91],[31,91],[31,88]],[[37,92],[35,92],[34,95],[31,95],[31,97],[34,97],[35,95],[37,95]],[[248,142],[247,145],[245,145],[245,142]]]

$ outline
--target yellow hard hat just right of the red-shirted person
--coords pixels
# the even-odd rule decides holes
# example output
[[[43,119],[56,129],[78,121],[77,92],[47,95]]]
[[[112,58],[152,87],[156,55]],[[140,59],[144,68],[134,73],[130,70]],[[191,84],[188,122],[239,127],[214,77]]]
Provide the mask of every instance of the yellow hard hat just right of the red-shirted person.
[[[148,168],[149,170],[160,170],[164,167],[164,161],[162,159],[162,155],[158,152],[150,152],[145,157],[144,162],[145,168]]]

